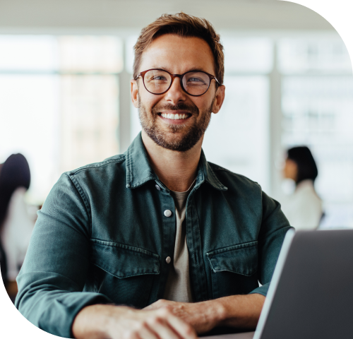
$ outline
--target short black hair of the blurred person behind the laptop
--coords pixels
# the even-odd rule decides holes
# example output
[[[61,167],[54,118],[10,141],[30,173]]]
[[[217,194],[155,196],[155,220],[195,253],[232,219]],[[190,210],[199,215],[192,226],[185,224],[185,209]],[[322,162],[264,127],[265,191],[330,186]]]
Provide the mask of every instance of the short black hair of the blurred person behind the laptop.
[[[318,167],[316,167],[316,162],[313,160],[313,155],[309,148],[306,146],[289,148],[287,150],[287,158],[294,161],[298,166],[297,184],[306,179],[315,181],[318,176]]]

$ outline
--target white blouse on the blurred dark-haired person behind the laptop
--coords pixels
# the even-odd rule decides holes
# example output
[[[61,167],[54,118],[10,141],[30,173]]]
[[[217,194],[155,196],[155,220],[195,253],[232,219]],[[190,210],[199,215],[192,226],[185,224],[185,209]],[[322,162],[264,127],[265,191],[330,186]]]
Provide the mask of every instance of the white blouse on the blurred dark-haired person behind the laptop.
[[[282,201],[282,211],[296,230],[315,230],[323,215],[323,202],[312,180],[300,182],[294,194]]]

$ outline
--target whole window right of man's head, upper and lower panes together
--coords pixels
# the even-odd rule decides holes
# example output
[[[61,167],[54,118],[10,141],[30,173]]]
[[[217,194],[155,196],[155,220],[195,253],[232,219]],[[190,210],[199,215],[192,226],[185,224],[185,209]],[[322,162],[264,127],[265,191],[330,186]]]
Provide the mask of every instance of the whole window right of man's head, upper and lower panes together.
[[[225,36],[222,42],[225,102],[219,114],[212,114],[203,149],[210,162],[249,177],[269,192],[268,73],[273,69],[273,41]]]

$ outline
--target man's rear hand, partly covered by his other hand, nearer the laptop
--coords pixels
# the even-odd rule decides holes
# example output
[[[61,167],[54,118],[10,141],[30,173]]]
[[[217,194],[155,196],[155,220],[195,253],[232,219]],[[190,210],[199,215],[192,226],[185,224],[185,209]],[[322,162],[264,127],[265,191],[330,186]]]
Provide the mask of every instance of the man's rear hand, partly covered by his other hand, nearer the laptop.
[[[174,316],[189,323],[197,333],[205,333],[217,326],[222,314],[221,305],[210,302],[172,302],[160,299],[144,310],[166,309]]]

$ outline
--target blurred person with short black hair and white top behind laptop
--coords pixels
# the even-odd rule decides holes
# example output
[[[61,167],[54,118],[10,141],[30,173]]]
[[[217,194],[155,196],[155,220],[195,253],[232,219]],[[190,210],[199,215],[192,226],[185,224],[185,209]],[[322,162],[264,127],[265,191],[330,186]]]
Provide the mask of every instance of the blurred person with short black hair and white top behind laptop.
[[[283,175],[295,182],[294,193],[282,202],[283,213],[290,225],[296,230],[316,229],[323,216],[323,206],[314,187],[318,167],[308,147],[287,150]]]

